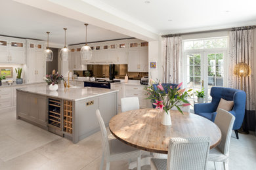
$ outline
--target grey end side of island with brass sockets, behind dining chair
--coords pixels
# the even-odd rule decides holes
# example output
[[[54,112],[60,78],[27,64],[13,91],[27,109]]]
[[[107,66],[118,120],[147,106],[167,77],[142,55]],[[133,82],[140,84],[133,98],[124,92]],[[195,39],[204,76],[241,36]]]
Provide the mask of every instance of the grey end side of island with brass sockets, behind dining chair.
[[[96,118],[96,109],[100,110],[102,118],[108,126],[110,119],[117,114],[117,93],[75,102],[75,114],[73,115],[74,143],[100,130]]]

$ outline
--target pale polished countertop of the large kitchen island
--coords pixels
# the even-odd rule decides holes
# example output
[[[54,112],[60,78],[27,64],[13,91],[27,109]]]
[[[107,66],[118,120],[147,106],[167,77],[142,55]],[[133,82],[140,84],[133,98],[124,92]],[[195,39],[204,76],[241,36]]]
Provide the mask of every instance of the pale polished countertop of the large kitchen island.
[[[110,90],[106,88],[91,88],[91,87],[77,87],[64,88],[59,84],[57,91],[49,90],[48,86],[32,86],[27,88],[19,88],[18,91],[35,93],[39,95],[47,95],[49,97],[56,97],[60,99],[66,99],[71,101],[79,101],[90,97],[97,97],[108,93],[114,93],[118,90]]]

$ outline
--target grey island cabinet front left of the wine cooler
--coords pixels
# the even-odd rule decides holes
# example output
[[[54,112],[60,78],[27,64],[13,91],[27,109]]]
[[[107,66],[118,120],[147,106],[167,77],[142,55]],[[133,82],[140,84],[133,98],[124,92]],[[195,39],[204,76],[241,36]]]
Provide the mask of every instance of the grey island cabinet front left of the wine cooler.
[[[18,92],[17,118],[25,118],[37,125],[47,127],[47,97]]]

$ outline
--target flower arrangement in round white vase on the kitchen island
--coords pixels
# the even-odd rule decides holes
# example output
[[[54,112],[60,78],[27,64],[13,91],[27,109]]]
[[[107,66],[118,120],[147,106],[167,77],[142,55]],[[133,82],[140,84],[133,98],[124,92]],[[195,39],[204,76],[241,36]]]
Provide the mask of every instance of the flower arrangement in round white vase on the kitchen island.
[[[64,78],[58,72],[56,73],[55,70],[53,70],[53,75],[46,75],[45,77],[45,81],[50,85],[49,90],[51,91],[58,90],[58,82],[60,80],[64,80]]]

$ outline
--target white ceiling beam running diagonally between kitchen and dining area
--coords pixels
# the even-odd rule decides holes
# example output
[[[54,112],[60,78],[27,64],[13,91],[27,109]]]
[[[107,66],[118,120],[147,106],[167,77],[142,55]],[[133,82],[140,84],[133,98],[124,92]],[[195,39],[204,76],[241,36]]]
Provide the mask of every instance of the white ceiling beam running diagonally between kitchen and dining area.
[[[37,9],[72,18],[144,41],[158,41],[160,35],[81,0],[14,0]],[[51,18],[49,18],[51,20]]]

